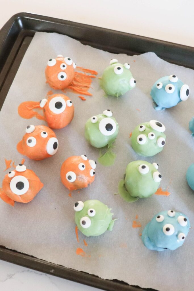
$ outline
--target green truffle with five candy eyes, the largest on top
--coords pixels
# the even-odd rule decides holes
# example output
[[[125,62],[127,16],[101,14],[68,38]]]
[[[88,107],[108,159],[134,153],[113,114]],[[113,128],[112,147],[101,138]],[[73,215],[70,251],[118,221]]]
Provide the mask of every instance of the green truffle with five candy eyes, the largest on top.
[[[165,126],[157,120],[139,124],[131,135],[132,148],[140,156],[156,155],[163,150],[166,143],[164,131]]]

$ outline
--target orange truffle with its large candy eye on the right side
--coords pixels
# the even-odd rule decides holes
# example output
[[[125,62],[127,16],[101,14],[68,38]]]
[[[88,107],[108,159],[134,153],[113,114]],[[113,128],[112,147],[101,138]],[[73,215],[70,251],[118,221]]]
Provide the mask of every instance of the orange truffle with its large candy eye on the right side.
[[[57,152],[58,139],[54,131],[45,125],[28,125],[17,150],[29,159],[42,160]]]

